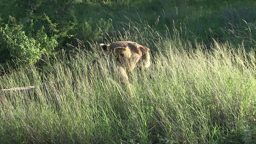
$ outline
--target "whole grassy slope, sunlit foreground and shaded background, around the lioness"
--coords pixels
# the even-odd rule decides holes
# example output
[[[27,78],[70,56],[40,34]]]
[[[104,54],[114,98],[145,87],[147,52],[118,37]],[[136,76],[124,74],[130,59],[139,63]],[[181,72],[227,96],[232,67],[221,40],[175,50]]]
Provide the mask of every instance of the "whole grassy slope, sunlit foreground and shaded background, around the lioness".
[[[75,0],[63,17],[76,23],[73,38],[37,64],[2,71],[0,89],[37,89],[0,94],[1,144],[256,143],[256,2],[105,1]],[[99,42],[121,40],[149,47],[151,66],[129,74],[132,92],[106,63],[90,85]]]

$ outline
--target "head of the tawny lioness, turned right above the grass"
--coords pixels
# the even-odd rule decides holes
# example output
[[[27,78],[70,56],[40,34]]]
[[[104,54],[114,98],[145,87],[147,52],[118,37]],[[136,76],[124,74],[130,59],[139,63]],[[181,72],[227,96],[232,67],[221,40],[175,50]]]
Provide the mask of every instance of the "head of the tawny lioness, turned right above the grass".
[[[149,48],[131,41],[114,42],[110,45],[100,44],[100,47],[109,51],[127,72],[138,67],[150,66]]]

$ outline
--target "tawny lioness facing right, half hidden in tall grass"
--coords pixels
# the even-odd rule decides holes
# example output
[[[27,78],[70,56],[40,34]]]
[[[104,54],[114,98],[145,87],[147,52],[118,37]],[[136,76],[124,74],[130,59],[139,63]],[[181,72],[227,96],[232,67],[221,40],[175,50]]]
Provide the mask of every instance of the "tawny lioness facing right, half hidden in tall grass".
[[[149,67],[150,53],[149,48],[131,41],[114,42],[110,45],[100,44],[105,54],[108,54],[110,59],[114,59],[114,67],[117,69],[120,80],[123,84],[130,88],[127,72],[130,72],[135,67]],[[111,62],[111,60],[110,60]],[[93,62],[99,65],[98,59]]]

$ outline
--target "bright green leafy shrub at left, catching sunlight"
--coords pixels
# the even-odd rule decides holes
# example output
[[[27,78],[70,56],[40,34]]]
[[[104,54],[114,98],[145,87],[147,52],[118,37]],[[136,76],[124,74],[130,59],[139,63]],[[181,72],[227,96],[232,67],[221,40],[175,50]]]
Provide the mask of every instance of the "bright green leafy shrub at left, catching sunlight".
[[[30,28],[33,20],[30,21]],[[0,28],[0,59],[15,64],[36,63],[45,52],[51,53],[58,46],[57,36],[48,37],[41,27],[36,36],[26,34],[24,25],[10,16],[8,24]]]

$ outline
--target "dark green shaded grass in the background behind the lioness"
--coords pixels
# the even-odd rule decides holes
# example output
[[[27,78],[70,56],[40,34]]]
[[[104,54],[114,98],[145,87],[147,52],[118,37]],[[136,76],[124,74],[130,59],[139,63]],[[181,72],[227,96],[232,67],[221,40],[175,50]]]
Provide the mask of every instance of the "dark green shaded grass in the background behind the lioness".
[[[118,3],[109,1],[105,5],[78,5],[74,9],[79,24],[76,38],[84,43],[90,42],[88,28],[82,27],[85,23],[91,26],[93,34],[102,34],[97,39],[99,42],[105,42],[105,39],[115,37],[112,32],[120,31],[119,37],[126,36],[122,28],[129,27],[132,22],[146,23],[161,34],[169,29],[170,35],[176,35],[172,29],[177,28],[180,38],[192,44],[202,41],[210,44],[214,38],[220,42],[232,42],[235,46],[244,41],[246,49],[250,49],[256,46],[255,6],[254,0],[120,0]],[[100,19],[111,22],[112,28],[99,24]],[[136,34],[135,31],[133,35]]]

